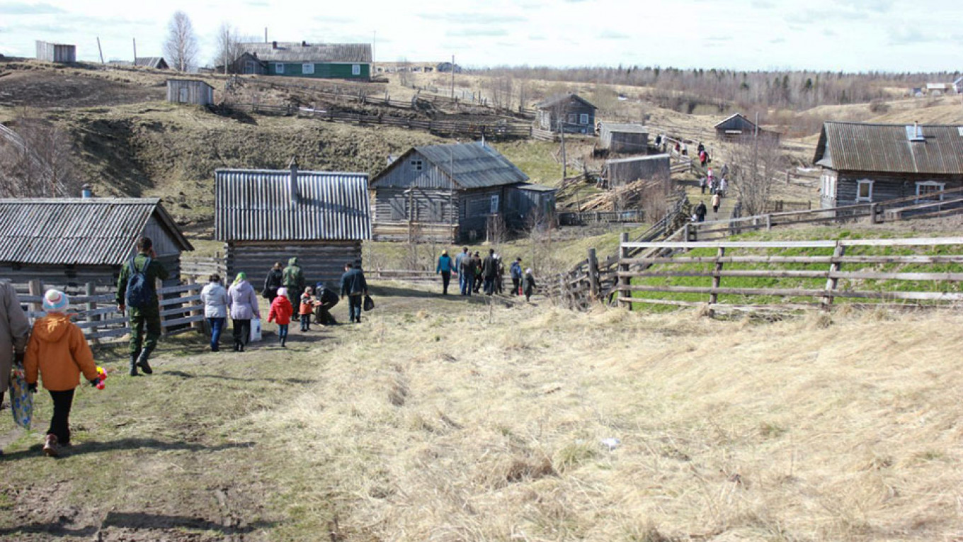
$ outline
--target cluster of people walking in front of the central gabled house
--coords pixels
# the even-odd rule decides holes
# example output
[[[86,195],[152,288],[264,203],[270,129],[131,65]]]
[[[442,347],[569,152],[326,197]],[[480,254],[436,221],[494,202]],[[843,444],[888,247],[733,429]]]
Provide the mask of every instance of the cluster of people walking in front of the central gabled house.
[[[462,247],[461,252],[453,260],[448,251],[442,251],[435,265],[435,274],[441,275],[442,295],[448,295],[448,286],[452,275],[458,276],[458,286],[461,295],[470,296],[472,293],[494,295],[505,292],[505,261],[495,254],[494,249],[488,249],[488,256],[481,258],[481,253],[471,253],[468,247]],[[522,258],[516,257],[508,267],[511,278],[511,294],[525,295],[529,301],[534,293],[535,279],[532,269],[522,272]]]

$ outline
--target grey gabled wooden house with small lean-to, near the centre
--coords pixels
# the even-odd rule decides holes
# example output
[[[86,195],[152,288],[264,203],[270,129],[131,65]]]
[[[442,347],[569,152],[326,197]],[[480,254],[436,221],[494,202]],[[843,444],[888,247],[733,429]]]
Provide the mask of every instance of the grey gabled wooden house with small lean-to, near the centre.
[[[377,240],[483,238],[490,221],[524,225],[534,209],[555,211],[555,191],[483,143],[409,149],[372,180]]]

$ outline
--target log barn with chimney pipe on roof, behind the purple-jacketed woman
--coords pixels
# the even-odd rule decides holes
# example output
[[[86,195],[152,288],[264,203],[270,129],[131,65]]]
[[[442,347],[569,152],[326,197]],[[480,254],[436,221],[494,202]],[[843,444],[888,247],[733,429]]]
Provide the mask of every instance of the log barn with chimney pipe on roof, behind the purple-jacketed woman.
[[[289,170],[217,170],[214,236],[227,274],[260,285],[275,261],[298,257],[307,281],[335,281],[371,239],[368,175]]]

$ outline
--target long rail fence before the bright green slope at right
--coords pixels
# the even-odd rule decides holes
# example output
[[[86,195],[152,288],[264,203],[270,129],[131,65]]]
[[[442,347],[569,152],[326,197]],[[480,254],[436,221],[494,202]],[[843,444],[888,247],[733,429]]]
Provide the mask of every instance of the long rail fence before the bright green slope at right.
[[[858,247],[897,249],[903,252],[911,247],[956,247],[951,254],[946,249],[939,254],[917,255],[872,255],[847,254],[847,250]],[[714,256],[668,256],[654,254],[653,251],[680,251],[688,253],[695,249],[715,251]],[[830,255],[807,255],[806,250],[821,249],[832,251]],[[750,254],[734,254],[748,250]],[[632,257],[633,251],[648,251],[647,256]],[[790,254],[770,254],[772,251],[791,251]],[[946,266],[963,264],[963,237],[935,237],[915,239],[845,239],[819,241],[774,241],[774,242],[657,242],[621,243],[622,257],[618,262],[618,301],[632,307],[632,304],[655,304],[673,306],[711,307],[722,305],[725,309],[755,310],[761,308],[778,309],[828,309],[836,298],[873,300],[874,305],[886,302],[916,302],[929,305],[948,305],[963,301],[960,282],[963,273],[920,271],[921,266]],[[668,264],[659,265],[656,264]],[[678,264],[695,264],[683,265]],[[727,269],[736,265],[738,269]],[[913,271],[893,270],[894,265],[912,265]],[[708,266],[708,268],[707,268]],[[787,268],[791,266],[794,268]],[[824,266],[823,269],[815,267]],[[846,266],[846,268],[844,268]],[[850,267],[851,266],[851,267]],[[634,269],[636,267],[636,269]],[[802,267],[803,269],[800,269]],[[882,270],[885,269],[885,270]],[[711,285],[673,285],[638,284],[639,280],[653,278],[706,278]],[[823,287],[762,287],[757,285],[726,286],[723,279],[754,278],[761,283],[772,280],[824,280]],[[846,281],[851,287],[840,287]],[[885,281],[885,289],[870,289],[867,281]],[[919,282],[938,282],[947,284],[946,289],[921,289]],[[889,282],[895,282],[891,285]],[[693,294],[705,296],[703,300],[642,298],[636,292],[664,292],[669,294]],[[817,302],[804,303],[792,299],[792,303],[763,302],[754,305],[721,304],[720,295],[765,296],[766,298],[815,298]],[[679,297],[678,295],[676,297]]]

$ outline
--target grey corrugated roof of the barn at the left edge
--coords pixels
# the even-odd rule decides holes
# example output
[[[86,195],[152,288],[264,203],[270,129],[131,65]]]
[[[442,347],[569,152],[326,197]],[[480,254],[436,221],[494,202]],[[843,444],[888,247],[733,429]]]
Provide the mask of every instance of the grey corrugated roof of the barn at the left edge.
[[[194,250],[158,198],[0,200],[0,261],[119,265],[154,213],[181,250]]]

